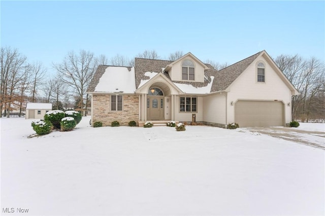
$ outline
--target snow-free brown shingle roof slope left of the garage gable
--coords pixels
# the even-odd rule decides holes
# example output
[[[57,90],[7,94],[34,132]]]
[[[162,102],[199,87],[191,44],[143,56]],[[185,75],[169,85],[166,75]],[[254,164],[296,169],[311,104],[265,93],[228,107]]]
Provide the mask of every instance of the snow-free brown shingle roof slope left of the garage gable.
[[[263,51],[258,52],[252,56],[249,56],[248,58],[219,70],[216,73],[215,79],[213,80],[211,92],[223,91],[228,88],[262,52]]]

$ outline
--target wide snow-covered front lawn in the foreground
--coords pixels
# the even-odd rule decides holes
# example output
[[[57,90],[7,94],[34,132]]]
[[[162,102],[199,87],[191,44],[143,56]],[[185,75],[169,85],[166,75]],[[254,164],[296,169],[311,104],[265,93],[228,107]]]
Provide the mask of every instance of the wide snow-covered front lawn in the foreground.
[[[89,117],[27,138],[31,120],[0,123],[2,215],[325,214],[325,151],[293,141],[208,126],[92,128]]]

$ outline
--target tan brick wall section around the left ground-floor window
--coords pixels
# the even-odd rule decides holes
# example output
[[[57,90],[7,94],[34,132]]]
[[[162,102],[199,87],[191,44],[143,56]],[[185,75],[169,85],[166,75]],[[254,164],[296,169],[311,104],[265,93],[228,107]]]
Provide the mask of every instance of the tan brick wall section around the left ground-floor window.
[[[122,111],[111,111],[110,94],[94,94],[92,96],[92,122],[101,121],[103,126],[111,126],[113,121],[120,125],[128,125],[130,121],[139,120],[139,96],[122,95]]]

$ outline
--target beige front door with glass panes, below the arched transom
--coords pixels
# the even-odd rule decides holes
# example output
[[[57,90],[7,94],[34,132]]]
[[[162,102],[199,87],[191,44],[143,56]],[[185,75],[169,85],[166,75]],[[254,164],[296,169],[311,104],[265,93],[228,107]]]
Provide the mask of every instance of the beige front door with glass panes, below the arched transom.
[[[164,119],[164,96],[148,96],[147,98],[147,119]]]

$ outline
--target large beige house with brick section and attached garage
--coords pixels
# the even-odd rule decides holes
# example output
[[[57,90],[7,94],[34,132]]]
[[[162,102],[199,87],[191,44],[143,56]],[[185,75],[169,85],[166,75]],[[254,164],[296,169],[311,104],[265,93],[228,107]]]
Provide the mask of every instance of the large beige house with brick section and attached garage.
[[[135,58],[134,67],[100,65],[87,90],[91,122],[191,122],[218,127],[285,126],[299,94],[266,51],[221,70],[187,53],[176,61]]]

